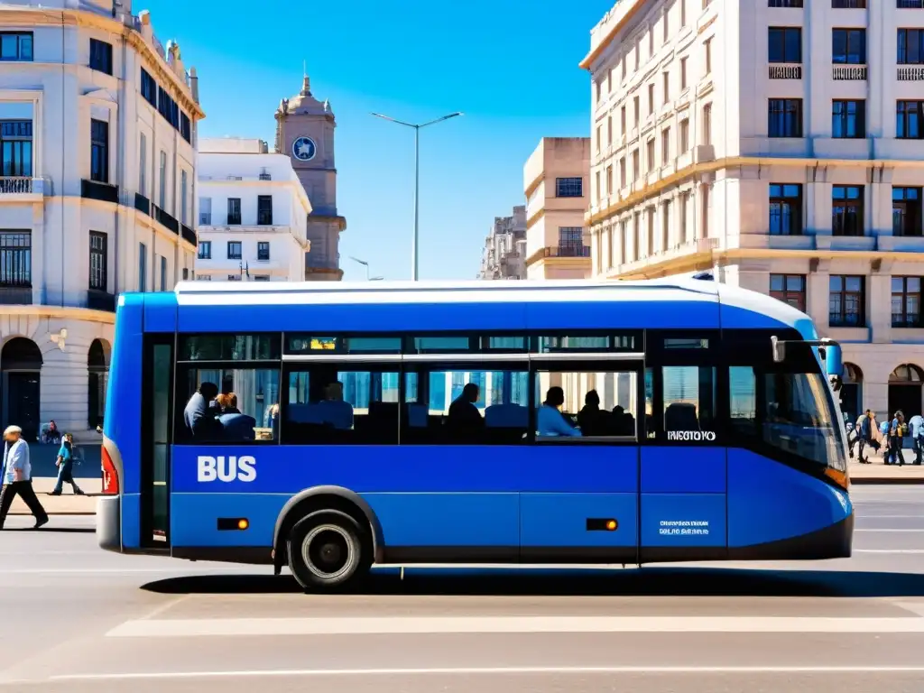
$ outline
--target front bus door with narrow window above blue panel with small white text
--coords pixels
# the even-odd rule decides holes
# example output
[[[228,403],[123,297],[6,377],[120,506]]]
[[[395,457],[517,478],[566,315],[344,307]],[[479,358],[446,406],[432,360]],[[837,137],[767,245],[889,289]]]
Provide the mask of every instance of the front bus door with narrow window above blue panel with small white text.
[[[718,331],[646,334],[645,440],[639,469],[642,562],[723,558],[726,450]]]

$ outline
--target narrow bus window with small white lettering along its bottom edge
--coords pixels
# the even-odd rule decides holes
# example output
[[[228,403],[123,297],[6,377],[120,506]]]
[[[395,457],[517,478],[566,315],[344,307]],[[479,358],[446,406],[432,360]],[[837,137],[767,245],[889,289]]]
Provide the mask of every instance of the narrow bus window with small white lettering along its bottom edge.
[[[714,443],[716,371],[711,366],[663,366],[645,371],[647,437],[658,442]]]

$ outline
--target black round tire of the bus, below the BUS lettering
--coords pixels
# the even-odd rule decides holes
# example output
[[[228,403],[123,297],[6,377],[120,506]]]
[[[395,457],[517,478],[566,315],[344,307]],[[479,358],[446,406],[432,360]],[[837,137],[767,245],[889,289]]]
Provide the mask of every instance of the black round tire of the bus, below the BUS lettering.
[[[298,520],[289,532],[289,569],[305,590],[336,590],[369,569],[369,545],[353,517],[339,510],[320,510]]]

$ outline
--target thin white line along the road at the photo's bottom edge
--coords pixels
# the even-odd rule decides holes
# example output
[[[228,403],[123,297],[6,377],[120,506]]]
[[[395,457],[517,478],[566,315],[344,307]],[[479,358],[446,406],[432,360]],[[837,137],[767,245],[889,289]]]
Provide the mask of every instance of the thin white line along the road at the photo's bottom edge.
[[[924,666],[504,666],[433,667],[427,669],[270,669],[225,672],[146,672],[67,674],[48,681],[106,681],[170,678],[235,678],[243,676],[419,676],[419,675],[588,675],[588,674],[904,674]],[[0,686],[3,686],[0,683]]]

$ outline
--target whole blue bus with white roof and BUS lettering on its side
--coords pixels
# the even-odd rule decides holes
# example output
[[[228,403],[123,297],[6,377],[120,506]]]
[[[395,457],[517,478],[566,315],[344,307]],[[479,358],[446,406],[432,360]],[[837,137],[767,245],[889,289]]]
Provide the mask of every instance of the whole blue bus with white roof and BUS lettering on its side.
[[[839,369],[807,315],[708,274],[127,294],[98,541],[312,590],[373,564],[846,557]]]

